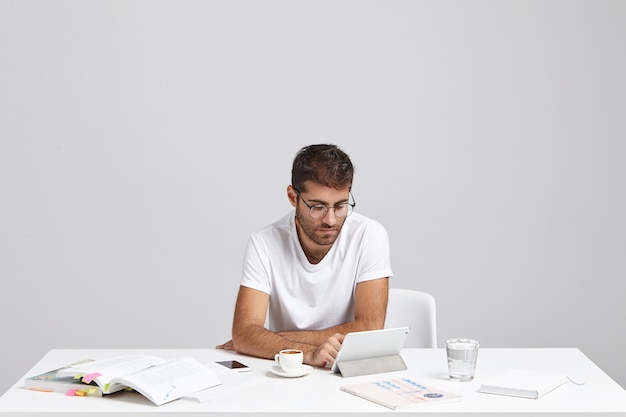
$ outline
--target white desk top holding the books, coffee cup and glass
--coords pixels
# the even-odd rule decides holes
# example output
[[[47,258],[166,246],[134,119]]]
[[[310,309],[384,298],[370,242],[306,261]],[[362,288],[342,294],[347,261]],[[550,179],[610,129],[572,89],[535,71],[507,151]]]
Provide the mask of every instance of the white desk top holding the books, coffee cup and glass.
[[[237,358],[252,366],[252,374],[266,382],[244,388],[209,402],[177,400],[160,407],[137,393],[124,392],[112,396],[67,397],[60,393],[29,391],[23,388],[24,378],[82,359],[98,359],[120,353],[157,356],[193,356],[203,363]],[[342,378],[325,369],[314,369],[301,378],[280,378],[270,371],[272,361],[213,349],[53,349],[24,378],[0,397],[0,415],[20,417],[50,412],[99,417],[117,413],[165,413],[189,415],[251,415],[262,412],[284,415],[357,415],[377,416],[387,413],[418,412],[426,415],[495,415],[576,414],[577,416],[613,414],[626,416],[626,391],[609,378],[578,349],[481,349],[478,354],[476,379],[453,382],[446,378],[444,349],[405,349],[402,352],[408,370],[389,374]],[[478,393],[480,381],[507,368],[537,369],[562,372],[584,385],[566,385],[539,400]],[[450,404],[433,404],[407,411],[394,411],[339,390],[343,384],[373,381],[390,376],[410,376],[414,380],[463,395],[463,400]],[[281,400],[279,400],[281,398]]]

